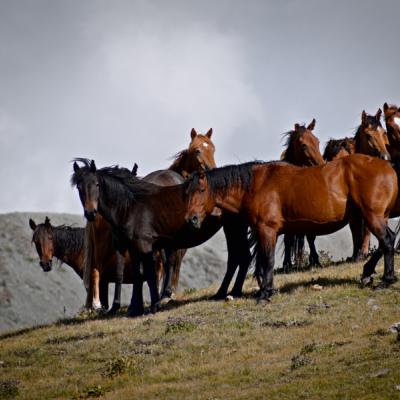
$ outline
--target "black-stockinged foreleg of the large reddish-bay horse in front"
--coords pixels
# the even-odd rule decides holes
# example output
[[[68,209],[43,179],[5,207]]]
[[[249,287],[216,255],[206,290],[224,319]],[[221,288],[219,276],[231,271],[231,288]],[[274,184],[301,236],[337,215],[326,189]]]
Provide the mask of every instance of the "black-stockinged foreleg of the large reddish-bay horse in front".
[[[258,301],[269,300],[274,292],[274,264],[277,231],[262,226],[257,229],[256,274],[260,284]]]

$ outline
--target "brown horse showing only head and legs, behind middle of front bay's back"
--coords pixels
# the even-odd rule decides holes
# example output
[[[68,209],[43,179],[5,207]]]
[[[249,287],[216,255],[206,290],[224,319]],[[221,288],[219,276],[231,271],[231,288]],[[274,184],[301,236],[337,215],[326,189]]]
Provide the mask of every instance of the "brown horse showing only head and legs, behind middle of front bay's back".
[[[313,134],[314,128],[315,119],[307,127],[295,124],[294,130],[285,133],[286,149],[281,160],[299,167],[325,164],[319,150],[319,140]],[[307,237],[307,240],[310,246],[310,264],[319,265],[318,253],[314,244],[315,237]],[[283,269],[287,272],[292,268],[292,257],[296,264],[303,260],[304,235],[285,234],[284,244]]]

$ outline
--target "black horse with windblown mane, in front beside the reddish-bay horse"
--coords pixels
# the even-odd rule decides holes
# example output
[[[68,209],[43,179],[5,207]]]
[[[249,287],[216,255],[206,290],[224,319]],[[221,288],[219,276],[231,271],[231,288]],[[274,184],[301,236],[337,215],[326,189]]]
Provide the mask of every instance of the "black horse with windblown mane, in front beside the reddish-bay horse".
[[[157,186],[126,173],[125,169],[106,167],[97,169],[95,162],[77,159],[84,166],[74,163],[71,178],[76,185],[84,215],[93,221],[99,212],[111,225],[120,252],[129,251],[133,264],[134,289],[130,314],[144,312],[140,263],[143,265],[145,279],[151,296],[151,311],[158,309],[154,251],[186,249],[197,246],[212,237],[224,226],[228,246],[228,267],[224,280],[215,298],[225,297],[229,284],[239,265],[239,273],[231,294],[240,296],[242,286],[251,260],[247,240],[248,226],[239,216],[220,219],[210,216],[202,229],[194,230],[185,221],[187,184]],[[165,173],[183,178],[173,171]]]

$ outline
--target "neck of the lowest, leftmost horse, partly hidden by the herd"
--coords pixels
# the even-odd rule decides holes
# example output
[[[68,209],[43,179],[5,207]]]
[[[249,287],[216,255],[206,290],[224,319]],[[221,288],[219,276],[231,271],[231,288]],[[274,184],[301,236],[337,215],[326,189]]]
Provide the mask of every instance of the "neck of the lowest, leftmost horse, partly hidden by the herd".
[[[81,278],[83,276],[83,236],[78,237],[78,230],[63,230],[55,228],[54,256],[69,265]],[[68,242],[63,240],[68,238]],[[77,243],[76,247],[69,247],[66,243]],[[80,246],[79,246],[80,245]]]

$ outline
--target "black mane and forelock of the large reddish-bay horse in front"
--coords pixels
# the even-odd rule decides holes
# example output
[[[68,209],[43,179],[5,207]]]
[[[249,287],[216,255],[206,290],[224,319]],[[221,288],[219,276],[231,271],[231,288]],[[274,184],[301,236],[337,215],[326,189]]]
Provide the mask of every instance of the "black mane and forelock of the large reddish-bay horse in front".
[[[205,171],[207,184],[212,194],[225,193],[232,186],[249,190],[253,178],[253,166],[264,164],[263,161],[251,161],[238,165],[226,165]],[[192,193],[199,184],[200,172],[193,173],[186,181],[187,192]]]

